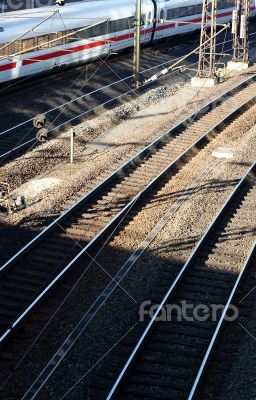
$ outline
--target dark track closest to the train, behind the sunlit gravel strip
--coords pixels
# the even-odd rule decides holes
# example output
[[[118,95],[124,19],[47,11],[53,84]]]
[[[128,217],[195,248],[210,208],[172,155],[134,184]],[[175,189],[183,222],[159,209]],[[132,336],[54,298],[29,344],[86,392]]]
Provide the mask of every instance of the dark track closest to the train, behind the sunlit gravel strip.
[[[251,43],[253,43],[255,41],[255,33],[251,33],[250,36]],[[227,40],[224,45],[229,44],[229,42],[230,40]],[[223,46],[223,43],[219,43],[218,46]],[[225,49],[226,52],[229,50],[231,49]],[[161,70],[165,65],[168,66],[171,62],[177,61],[179,58],[181,57],[174,58],[170,61],[168,51],[166,53],[161,53],[160,56],[158,53],[154,56],[152,56],[152,54],[148,56],[146,53],[142,59],[142,65],[144,65],[144,71],[142,74],[144,78],[150,77],[152,74]],[[190,57],[189,60],[189,66],[192,67],[195,64],[195,57]],[[36,129],[33,128],[33,117],[37,113],[44,113],[46,115],[49,132],[50,134],[55,134],[63,130],[66,126],[78,122],[81,118],[93,115],[101,107],[113,107],[113,105],[118,104],[121,99],[122,101],[129,99],[129,96],[134,94],[134,90],[131,87],[131,66],[128,63],[129,69],[127,70],[126,64],[127,63],[124,63],[124,66],[121,64],[119,68],[111,67],[111,79],[104,80],[104,82],[110,81],[108,84],[105,84],[102,81],[97,82],[96,79],[96,83],[94,84],[88,82],[86,85],[82,85],[82,87],[80,86],[80,88],[74,92],[75,94],[70,100],[63,102],[60,105],[45,109],[45,106],[42,107],[40,103],[40,108],[38,108],[38,106],[37,108],[33,107],[35,111],[31,118],[25,121],[20,121],[11,127],[6,125],[6,123],[3,123],[1,125],[2,129],[3,127],[6,128],[0,132],[0,162],[3,163],[5,160],[40,143],[36,139]],[[171,74],[175,73],[176,72],[172,72]],[[114,82],[113,75],[115,78]],[[118,79],[116,80],[116,78]],[[24,102],[26,103],[25,100]],[[35,103],[37,102],[38,100],[35,101]],[[21,112],[19,112],[19,114],[22,115]]]

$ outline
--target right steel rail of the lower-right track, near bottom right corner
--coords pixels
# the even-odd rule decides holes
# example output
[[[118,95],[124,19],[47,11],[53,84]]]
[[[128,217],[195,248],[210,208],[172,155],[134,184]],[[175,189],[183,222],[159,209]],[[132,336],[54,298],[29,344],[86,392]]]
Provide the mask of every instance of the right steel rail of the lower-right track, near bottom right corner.
[[[242,267],[242,269],[241,269],[241,271],[240,271],[240,273],[239,273],[239,275],[238,275],[238,277],[237,277],[237,279],[235,281],[234,287],[233,287],[233,289],[232,289],[232,291],[231,291],[231,293],[229,295],[229,298],[227,300],[225,308],[223,309],[223,312],[222,312],[222,315],[220,317],[220,320],[219,320],[219,322],[217,324],[215,332],[214,332],[214,334],[212,336],[212,339],[210,341],[210,344],[209,344],[209,346],[207,348],[207,351],[205,353],[204,359],[203,359],[203,361],[202,361],[202,363],[200,365],[200,368],[198,370],[198,373],[197,373],[196,379],[194,381],[194,384],[192,386],[192,389],[191,389],[191,391],[189,393],[188,400],[193,400],[194,399],[194,396],[195,396],[195,394],[196,394],[196,392],[198,390],[198,387],[199,387],[199,384],[201,382],[202,376],[205,373],[205,369],[206,369],[206,367],[208,365],[208,362],[209,362],[210,356],[212,354],[212,351],[214,349],[214,346],[216,344],[216,341],[217,341],[217,339],[219,337],[221,328],[223,327],[223,324],[225,322],[225,317],[227,315],[227,311],[228,311],[230,305],[232,304],[232,301],[234,300],[235,296],[237,295],[237,291],[239,289],[239,284],[241,283],[241,280],[243,279],[243,277],[245,275],[245,272],[246,272],[247,268],[249,267],[249,265],[250,265],[250,263],[252,261],[252,258],[255,257],[255,252],[256,252],[256,241],[253,243],[253,245],[252,245],[252,247],[251,247],[251,249],[250,249],[250,251],[248,253],[248,256],[247,256],[247,258],[246,258],[246,260],[244,262],[244,265],[243,265],[243,267]]]

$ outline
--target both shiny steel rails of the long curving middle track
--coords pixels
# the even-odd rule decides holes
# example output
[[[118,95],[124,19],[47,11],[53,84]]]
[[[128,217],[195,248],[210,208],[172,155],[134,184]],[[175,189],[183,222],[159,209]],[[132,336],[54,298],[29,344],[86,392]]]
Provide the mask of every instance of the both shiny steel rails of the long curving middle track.
[[[252,79],[252,78],[251,78]],[[249,80],[250,81],[250,80]],[[246,80],[248,83],[248,80]],[[239,88],[242,88],[244,86],[244,83],[240,83],[237,85],[235,88],[233,88],[231,91],[237,91]],[[228,95],[227,93],[230,93],[230,90],[226,92],[226,96]],[[221,96],[223,97],[223,95]],[[219,100],[220,97],[215,98],[213,101],[207,103],[204,105],[202,108],[200,108],[200,111],[209,111],[211,107],[214,107],[216,105],[217,100]],[[200,146],[202,142],[205,141],[205,139],[212,134],[213,132],[216,132],[216,134],[219,132],[219,128],[224,124],[227,123],[233,116],[235,116],[238,112],[244,109],[249,103],[252,101],[255,102],[256,96],[252,96],[250,99],[246,100],[243,104],[240,104],[238,107],[236,107],[234,110],[232,110],[228,115],[223,117],[221,120],[219,120],[215,125],[213,125],[207,132],[205,132],[199,139],[197,139],[189,148],[187,148],[179,157],[176,158],[171,164],[169,164],[164,170],[162,170],[155,178],[153,178],[147,185],[146,187],[140,191],[137,195],[135,195],[126,205],[123,207],[123,209],[112,219],[110,220],[107,225],[95,235],[95,237],[76,255],[76,257],[66,265],[62,269],[62,271],[48,284],[46,288],[44,288],[41,293],[33,300],[33,302],[26,308],[24,312],[12,323],[12,325],[2,334],[0,337],[0,343],[3,342],[3,340],[12,332],[14,328],[28,315],[28,313],[39,303],[39,301],[53,288],[53,286],[65,275],[65,273],[71,269],[71,267],[74,266],[74,264],[85,254],[85,252],[88,252],[88,250],[95,245],[99,240],[112,228],[114,227],[117,222],[122,218],[122,216],[126,213],[126,211],[131,208],[139,198],[144,196],[149,189],[153,187],[153,185],[158,182],[167,172],[169,172],[173,167],[176,166],[176,164],[179,163],[181,159],[184,158],[184,156],[188,155],[192,149],[197,148]],[[65,221],[65,219],[70,216],[74,211],[76,211],[82,204],[85,204],[88,202],[92,197],[94,197],[97,192],[103,188],[105,188],[109,183],[111,183],[116,177],[120,176],[120,174],[124,173],[125,171],[129,170],[129,168],[136,163],[136,161],[142,160],[149,154],[152,154],[154,151],[154,148],[158,147],[161,143],[166,142],[167,139],[170,140],[171,135],[175,135],[177,132],[182,130],[184,126],[186,126],[188,123],[190,123],[191,119],[196,120],[198,116],[198,111],[196,113],[193,113],[190,115],[188,118],[183,120],[181,123],[177,124],[175,127],[172,129],[168,130],[165,132],[160,138],[156,139],[154,142],[149,144],[146,148],[144,148],[142,151],[140,151],[138,154],[136,154],[132,159],[130,159],[128,162],[123,164],[120,168],[118,168],[113,174],[111,174],[107,179],[105,179],[103,182],[101,182],[99,185],[97,185],[94,189],[92,189],[88,194],[85,194],[82,199],[80,199],[76,204],[74,204],[72,207],[70,207],[66,212],[64,212],[62,215],[60,215],[56,220],[54,220],[47,228],[45,228],[39,235],[37,235],[32,241],[30,241],[26,246],[24,246],[19,252],[17,252],[10,260],[8,260],[3,266],[0,268],[0,274],[2,273],[7,273],[8,268],[11,268],[15,262],[17,262],[23,255],[25,255],[30,249],[32,249],[35,245],[40,243],[43,238],[51,233],[51,231],[56,227],[59,226],[60,223]]]

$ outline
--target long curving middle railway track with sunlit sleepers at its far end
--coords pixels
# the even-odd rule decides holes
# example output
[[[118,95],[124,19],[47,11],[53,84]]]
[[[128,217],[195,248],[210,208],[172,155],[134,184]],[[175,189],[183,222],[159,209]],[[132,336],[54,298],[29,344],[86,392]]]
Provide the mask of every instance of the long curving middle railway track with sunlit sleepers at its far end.
[[[0,342],[167,173],[175,173],[255,104],[254,79],[247,78],[151,143],[0,268]]]

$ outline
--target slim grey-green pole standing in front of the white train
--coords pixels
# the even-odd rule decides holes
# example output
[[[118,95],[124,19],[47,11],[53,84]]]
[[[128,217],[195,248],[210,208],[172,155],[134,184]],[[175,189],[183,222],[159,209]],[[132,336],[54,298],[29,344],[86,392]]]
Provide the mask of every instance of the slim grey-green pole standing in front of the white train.
[[[140,37],[141,37],[141,0],[135,0],[134,17],[134,56],[133,56],[133,82],[135,89],[140,86]]]

